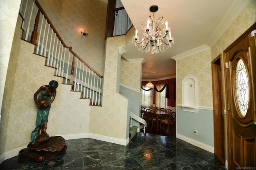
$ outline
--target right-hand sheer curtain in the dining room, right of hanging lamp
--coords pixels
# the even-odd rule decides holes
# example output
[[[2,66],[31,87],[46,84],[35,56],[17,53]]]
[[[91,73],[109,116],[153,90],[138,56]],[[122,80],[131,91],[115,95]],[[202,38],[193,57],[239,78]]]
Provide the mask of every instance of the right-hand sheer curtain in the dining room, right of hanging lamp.
[[[164,84],[156,84],[157,90],[161,90],[164,87]],[[166,88],[162,92],[156,92],[156,107],[165,108],[167,107],[166,99]]]

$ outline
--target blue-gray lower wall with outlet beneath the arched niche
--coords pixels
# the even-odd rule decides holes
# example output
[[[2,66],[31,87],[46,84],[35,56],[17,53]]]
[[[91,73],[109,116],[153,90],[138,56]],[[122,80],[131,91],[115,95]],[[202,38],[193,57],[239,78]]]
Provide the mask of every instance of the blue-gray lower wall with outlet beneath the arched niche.
[[[214,147],[213,110],[198,109],[198,113],[183,111],[177,106],[177,133]],[[194,128],[198,134],[194,134]]]

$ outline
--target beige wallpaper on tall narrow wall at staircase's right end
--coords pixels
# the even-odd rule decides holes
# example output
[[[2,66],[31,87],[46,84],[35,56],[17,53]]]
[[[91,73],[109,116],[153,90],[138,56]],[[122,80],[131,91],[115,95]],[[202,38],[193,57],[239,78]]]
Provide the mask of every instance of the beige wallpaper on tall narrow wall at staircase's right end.
[[[128,137],[128,100],[116,92],[118,47],[124,47],[125,35],[106,40],[106,61],[102,107],[92,107],[90,133],[126,140]],[[118,82],[119,83],[119,82]],[[117,102],[118,101],[118,102]]]

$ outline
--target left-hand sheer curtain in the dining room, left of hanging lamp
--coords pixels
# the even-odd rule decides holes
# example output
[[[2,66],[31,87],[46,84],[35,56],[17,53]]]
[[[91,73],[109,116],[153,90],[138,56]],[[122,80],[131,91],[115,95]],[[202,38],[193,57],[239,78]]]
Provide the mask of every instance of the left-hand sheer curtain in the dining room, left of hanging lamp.
[[[150,88],[146,88],[145,85],[142,85],[142,87],[146,90]],[[141,89],[141,95],[140,95],[140,102],[141,106],[145,108],[152,108],[153,107],[153,91],[154,89],[151,89],[149,91],[146,91]]]

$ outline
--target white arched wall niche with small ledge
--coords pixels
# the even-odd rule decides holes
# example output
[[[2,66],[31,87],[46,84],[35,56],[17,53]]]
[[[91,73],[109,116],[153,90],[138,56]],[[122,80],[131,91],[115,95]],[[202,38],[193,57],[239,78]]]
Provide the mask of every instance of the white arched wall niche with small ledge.
[[[194,76],[186,76],[182,81],[182,109],[198,112],[198,82]]]

